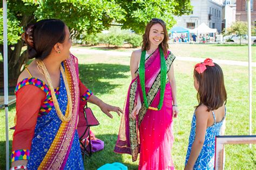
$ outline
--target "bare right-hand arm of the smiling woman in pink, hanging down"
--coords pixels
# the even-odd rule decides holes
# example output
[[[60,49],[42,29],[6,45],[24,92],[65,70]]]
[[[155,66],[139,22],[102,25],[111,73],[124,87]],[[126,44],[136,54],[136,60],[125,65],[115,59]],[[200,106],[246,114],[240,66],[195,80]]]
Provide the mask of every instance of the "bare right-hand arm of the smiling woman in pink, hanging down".
[[[177,88],[176,88],[176,81],[175,81],[175,77],[174,77],[174,69],[173,69],[173,63],[171,65],[171,69],[169,70],[169,72],[167,73],[168,79],[169,79],[169,83],[171,86],[171,90],[172,90],[172,104],[176,105],[172,107],[172,111],[173,111],[173,117],[177,117],[179,110],[177,107]]]

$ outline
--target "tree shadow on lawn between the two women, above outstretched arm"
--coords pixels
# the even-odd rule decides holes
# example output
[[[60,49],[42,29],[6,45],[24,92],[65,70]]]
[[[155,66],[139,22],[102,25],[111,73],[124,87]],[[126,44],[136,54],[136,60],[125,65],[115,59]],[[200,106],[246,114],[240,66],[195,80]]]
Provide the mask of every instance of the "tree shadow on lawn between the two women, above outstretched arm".
[[[79,65],[79,77],[86,87],[91,89],[94,94],[106,94],[110,90],[122,86],[121,83],[111,84],[103,82],[102,79],[126,79],[126,72],[129,72],[129,66],[114,65],[106,63],[97,63],[91,65]]]

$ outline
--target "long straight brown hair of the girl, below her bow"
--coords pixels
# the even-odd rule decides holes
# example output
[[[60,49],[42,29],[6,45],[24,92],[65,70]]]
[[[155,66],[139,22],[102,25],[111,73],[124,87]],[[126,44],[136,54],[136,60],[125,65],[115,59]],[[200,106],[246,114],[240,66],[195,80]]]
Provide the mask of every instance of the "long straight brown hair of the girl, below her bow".
[[[198,73],[194,69],[194,76],[199,83],[197,93],[198,108],[201,104],[206,105],[207,111],[215,110],[227,102],[227,93],[224,85],[224,76],[222,69],[217,63],[215,66],[206,66],[203,73]]]

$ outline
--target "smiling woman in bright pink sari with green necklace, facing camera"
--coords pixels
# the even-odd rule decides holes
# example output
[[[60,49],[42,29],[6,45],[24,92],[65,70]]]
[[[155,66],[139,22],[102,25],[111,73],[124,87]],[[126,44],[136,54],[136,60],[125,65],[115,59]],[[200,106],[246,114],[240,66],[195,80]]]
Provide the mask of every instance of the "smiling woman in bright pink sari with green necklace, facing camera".
[[[178,115],[176,82],[168,51],[165,23],[153,18],[143,35],[142,49],[131,56],[132,82],[125,101],[114,152],[128,153],[139,169],[174,169],[172,117]]]

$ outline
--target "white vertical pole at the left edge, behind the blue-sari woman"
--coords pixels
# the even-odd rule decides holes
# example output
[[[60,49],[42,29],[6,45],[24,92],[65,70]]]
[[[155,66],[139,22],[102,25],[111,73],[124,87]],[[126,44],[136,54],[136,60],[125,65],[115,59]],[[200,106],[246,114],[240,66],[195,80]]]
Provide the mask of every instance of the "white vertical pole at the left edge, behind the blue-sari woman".
[[[4,107],[5,107],[5,149],[6,170],[9,169],[9,128],[8,128],[8,55],[7,55],[7,2],[3,0],[3,38],[4,38]]]

